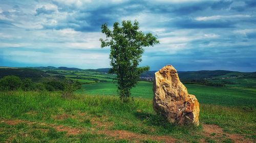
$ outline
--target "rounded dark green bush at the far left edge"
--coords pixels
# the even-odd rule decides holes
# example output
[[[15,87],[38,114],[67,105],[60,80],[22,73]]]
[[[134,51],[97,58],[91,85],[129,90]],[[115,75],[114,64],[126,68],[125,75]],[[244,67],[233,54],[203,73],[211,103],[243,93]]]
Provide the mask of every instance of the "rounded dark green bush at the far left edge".
[[[22,86],[22,80],[14,75],[8,75],[0,80],[0,90],[2,91],[15,91]]]

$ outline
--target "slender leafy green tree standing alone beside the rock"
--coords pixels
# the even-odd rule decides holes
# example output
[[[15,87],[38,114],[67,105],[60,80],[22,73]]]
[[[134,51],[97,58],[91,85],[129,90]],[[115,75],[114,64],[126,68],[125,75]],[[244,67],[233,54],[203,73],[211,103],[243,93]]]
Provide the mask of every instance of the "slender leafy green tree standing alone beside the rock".
[[[106,39],[99,39],[101,48],[110,46],[110,73],[116,74],[118,94],[122,101],[130,97],[130,90],[135,87],[139,76],[150,67],[138,67],[142,61],[143,47],[153,46],[159,41],[151,33],[144,34],[139,31],[139,22],[130,20],[122,21],[122,25],[114,23],[113,31],[108,24],[101,25],[101,32]]]

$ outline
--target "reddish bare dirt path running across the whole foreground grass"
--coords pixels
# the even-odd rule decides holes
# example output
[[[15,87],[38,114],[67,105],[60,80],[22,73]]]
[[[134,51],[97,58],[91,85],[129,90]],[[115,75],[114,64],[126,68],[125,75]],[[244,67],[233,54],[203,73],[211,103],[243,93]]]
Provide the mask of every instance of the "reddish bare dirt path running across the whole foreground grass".
[[[17,125],[19,123],[26,123],[27,125],[42,125],[42,126],[48,126],[52,127],[57,131],[66,131],[68,135],[77,135],[81,134],[83,132],[88,132],[88,130],[84,128],[73,128],[73,127],[68,127],[68,126],[63,126],[63,125],[56,125],[56,124],[45,124],[45,123],[37,123],[37,122],[28,122],[24,120],[3,120],[0,121],[1,123],[6,123],[8,125]],[[96,125],[96,127],[103,127],[103,130],[97,130],[97,129],[92,129],[96,134],[105,134],[111,137],[114,137],[116,139],[126,139],[126,140],[146,140],[146,139],[152,139],[152,140],[157,140],[157,141],[164,141],[164,142],[175,142],[177,139],[167,136],[167,135],[149,135],[149,134],[141,134],[141,133],[134,133],[130,131],[125,131],[125,130],[108,130],[106,126],[113,125],[113,123],[100,123],[98,121],[93,121],[93,124]],[[46,129],[42,129],[44,131],[48,131]],[[236,143],[242,143],[242,142],[248,142],[252,143],[253,141],[244,138],[240,134],[230,134],[230,133],[224,133],[222,128],[217,126],[217,125],[208,125],[208,124],[203,124],[203,135],[205,138],[202,138],[200,141],[201,142],[209,142],[207,141],[208,139],[215,140],[216,142],[222,142],[223,139],[231,139],[233,142]]]

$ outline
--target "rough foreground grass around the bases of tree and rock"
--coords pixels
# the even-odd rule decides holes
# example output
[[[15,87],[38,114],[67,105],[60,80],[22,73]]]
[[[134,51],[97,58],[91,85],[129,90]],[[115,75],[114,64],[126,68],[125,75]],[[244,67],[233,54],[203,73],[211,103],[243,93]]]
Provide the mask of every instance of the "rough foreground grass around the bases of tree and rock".
[[[145,83],[146,84],[146,83]],[[126,130],[147,136],[168,135],[181,141],[207,138],[202,126],[180,127],[166,123],[156,115],[152,100],[135,98],[122,103],[117,96],[80,95],[73,99],[61,98],[60,93],[2,92],[0,93],[0,138],[10,142],[128,142],[127,138],[105,135],[105,130]],[[200,105],[200,122],[216,124],[226,132],[255,137],[255,110],[238,106]],[[5,121],[24,121],[8,124]],[[79,134],[66,130],[82,129]],[[193,130],[193,132],[191,132]],[[103,132],[103,133],[102,133]],[[227,139],[227,138],[223,138]],[[141,142],[156,142],[141,138]]]

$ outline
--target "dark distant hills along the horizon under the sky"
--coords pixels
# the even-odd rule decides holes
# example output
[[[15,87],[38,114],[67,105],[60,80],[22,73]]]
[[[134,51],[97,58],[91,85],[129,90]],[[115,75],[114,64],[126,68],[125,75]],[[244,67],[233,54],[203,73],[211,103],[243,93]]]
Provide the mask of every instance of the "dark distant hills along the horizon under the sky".
[[[13,69],[13,70],[11,70]],[[16,69],[16,70],[14,70]],[[22,77],[31,76],[38,77],[42,75],[44,71],[41,70],[63,70],[63,71],[89,71],[89,72],[102,72],[108,73],[110,68],[99,68],[99,69],[79,69],[79,68],[68,68],[68,67],[29,67],[29,68],[12,68],[12,67],[0,67],[0,77],[4,75],[22,75]],[[24,73],[20,73],[24,72]],[[57,73],[57,71],[55,71]],[[153,78],[157,71],[147,71],[141,74],[144,78]],[[48,72],[50,73],[50,72]],[[46,74],[46,73],[45,73]],[[226,71],[226,70],[201,70],[201,71],[178,71],[180,79],[214,79],[214,78],[256,78],[256,72],[238,72],[238,71]]]

